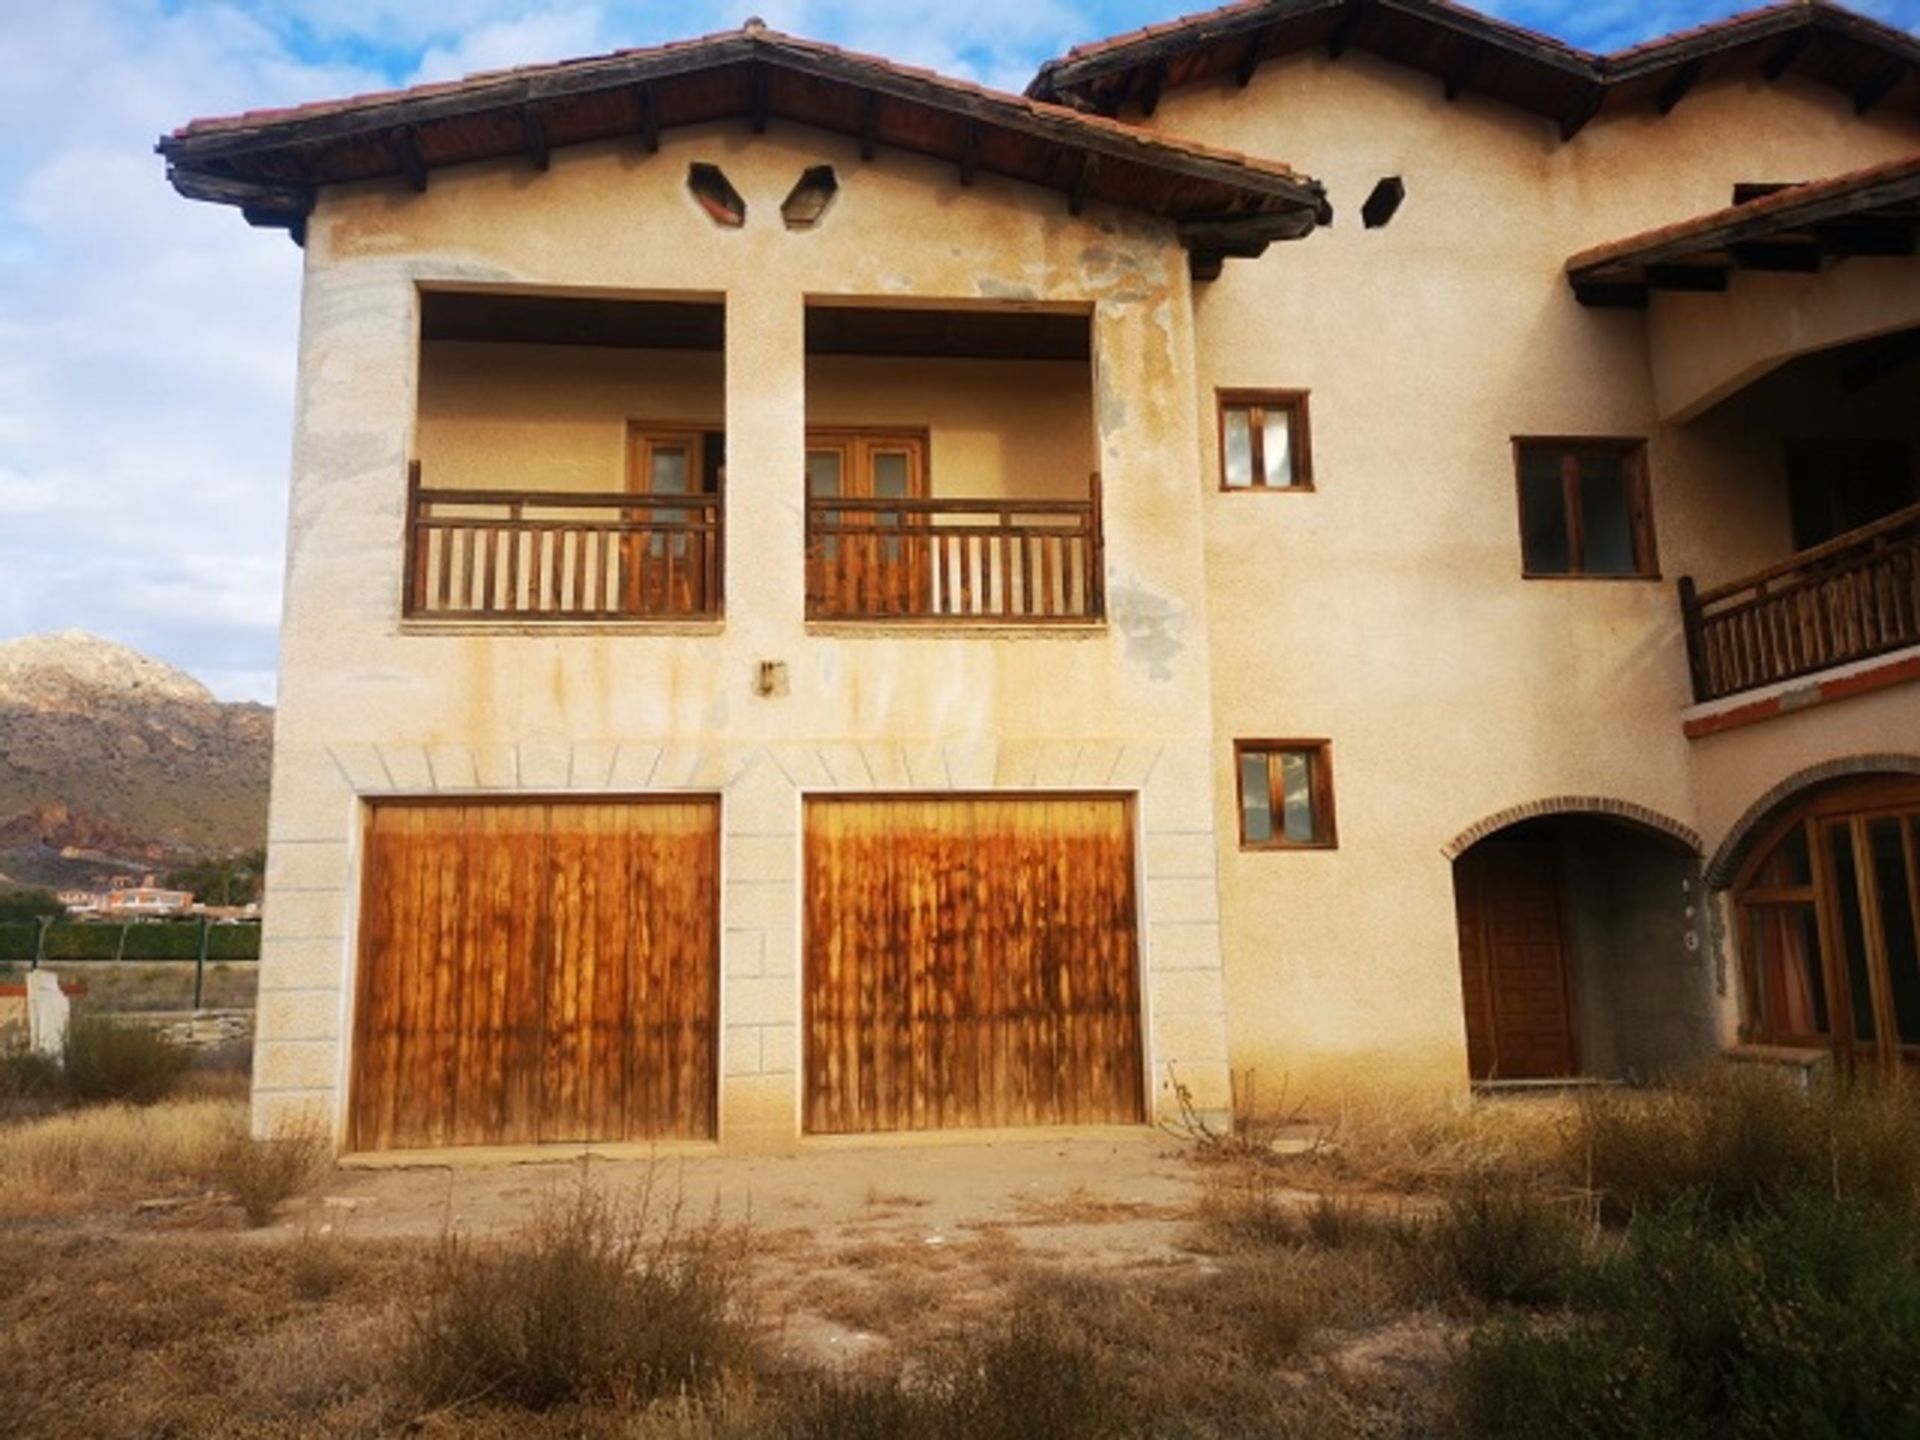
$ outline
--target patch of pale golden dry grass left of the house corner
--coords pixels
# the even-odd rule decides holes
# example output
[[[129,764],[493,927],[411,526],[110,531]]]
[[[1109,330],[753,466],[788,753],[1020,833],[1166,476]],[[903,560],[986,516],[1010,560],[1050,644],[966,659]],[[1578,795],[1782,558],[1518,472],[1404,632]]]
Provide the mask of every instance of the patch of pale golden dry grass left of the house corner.
[[[192,1100],[0,1127],[0,1213],[81,1213],[196,1190],[244,1114],[234,1102]]]

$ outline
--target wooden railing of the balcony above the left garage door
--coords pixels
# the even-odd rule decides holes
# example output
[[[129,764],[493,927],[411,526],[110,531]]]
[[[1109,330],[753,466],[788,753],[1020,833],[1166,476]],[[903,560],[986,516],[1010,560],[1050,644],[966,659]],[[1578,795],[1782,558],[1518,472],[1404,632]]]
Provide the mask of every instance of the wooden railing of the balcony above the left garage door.
[[[422,490],[407,482],[403,612],[426,620],[720,614],[720,495]]]

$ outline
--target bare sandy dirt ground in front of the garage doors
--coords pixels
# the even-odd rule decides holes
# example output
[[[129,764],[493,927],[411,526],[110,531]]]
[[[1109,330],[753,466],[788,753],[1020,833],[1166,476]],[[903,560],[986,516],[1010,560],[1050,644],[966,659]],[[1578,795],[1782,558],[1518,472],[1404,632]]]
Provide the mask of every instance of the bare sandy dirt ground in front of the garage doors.
[[[278,1225],[349,1240],[495,1235],[582,1181],[741,1227],[762,1311],[806,1359],[952,1329],[1035,1267],[1196,1273],[1208,1175],[1152,1129],[962,1144],[818,1142],[799,1154],[346,1167]]]

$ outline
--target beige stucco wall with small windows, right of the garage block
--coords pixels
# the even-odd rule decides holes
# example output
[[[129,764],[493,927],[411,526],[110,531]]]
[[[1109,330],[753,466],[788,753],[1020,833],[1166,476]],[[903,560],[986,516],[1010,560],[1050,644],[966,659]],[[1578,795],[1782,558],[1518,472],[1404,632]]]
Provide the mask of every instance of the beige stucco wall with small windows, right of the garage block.
[[[1920,131],[1860,121],[1828,90],[1730,81],[1561,144],[1544,119],[1319,52],[1246,90],[1167,94],[1152,125],[1298,163],[1336,207],[1332,228],[1196,288],[1198,413],[1215,388],[1309,390],[1317,484],[1215,493],[1202,420],[1233,1060],[1265,1092],[1284,1077],[1290,1100],[1459,1087],[1440,847],[1548,797],[1699,828],[1672,578],[1786,553],[1778,474],[1757,484],[1751,449],[1657,420],[1647,317],[1582,309],[1565,259],[1718,209],[1736,180],[1910,152]],[[1359,202],[1386,175],[1405,204],[1365,230]],[[1511,438],[1526,434],[1649,440],[1663,580],[1521,578]],[[1219,758],[1236,735],[1332,739],[1338,851],[1238,851]]]

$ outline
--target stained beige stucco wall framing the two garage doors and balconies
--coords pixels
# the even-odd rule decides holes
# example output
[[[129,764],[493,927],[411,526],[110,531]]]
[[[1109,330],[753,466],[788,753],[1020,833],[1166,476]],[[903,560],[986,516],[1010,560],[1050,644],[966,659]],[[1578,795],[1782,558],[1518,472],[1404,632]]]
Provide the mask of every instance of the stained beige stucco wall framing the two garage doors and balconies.
[[[745,228],[716,228],[685,194],[693,159],[726,167],[751,205]],[[787,232],[778,202],[820,161],[839,169],[839,198],[816,230]],[[422,284],[724,296],[724,626],[401,624]],[[1106,480],[1108,626],[806,628],[795,482],[808,296],[1091,307],[1092,382],[1081,367],[1077,401],[1091,426],[1081,409],[1060,453]],[[307,238],[255,1123],[342,1116],[363,801],[453,791],[722,793],[726,1144],[797,1133],[803,793],[1139,795],[1156,1104],[1169,1102],[1169,1066],[1202,1106],[1223,1104],[1190,317],[1165,225],[1098,207],[1071,219],[1058,194],[989,177],[960,188],[948,167],[887,152],[862,163],[849,140],[780,125],[760,138],[745,125],[672,132],[653,157],[563,150],[545,175],[511,161],[436,171],[422,196],[323,194]],[[985,422],[991,405],[968,405]],[[1089,428],[1091,455],[1077,449]],[[764,660],[787,666],[781,693],[756,693]]]

